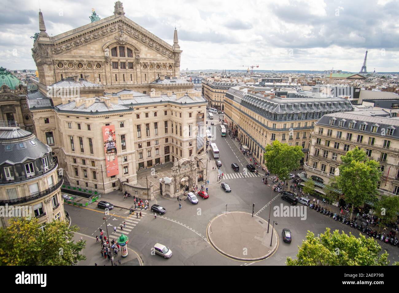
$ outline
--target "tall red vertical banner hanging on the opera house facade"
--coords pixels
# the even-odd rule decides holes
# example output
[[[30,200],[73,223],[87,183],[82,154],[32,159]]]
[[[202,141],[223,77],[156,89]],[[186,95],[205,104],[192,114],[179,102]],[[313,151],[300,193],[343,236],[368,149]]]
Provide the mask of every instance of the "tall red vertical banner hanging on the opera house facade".
[[[105,163],[107,166],[107,177],[119,174],[118,157],[117,157],[117,141],[115,136],[115,126],[103,126],[103,140]]]

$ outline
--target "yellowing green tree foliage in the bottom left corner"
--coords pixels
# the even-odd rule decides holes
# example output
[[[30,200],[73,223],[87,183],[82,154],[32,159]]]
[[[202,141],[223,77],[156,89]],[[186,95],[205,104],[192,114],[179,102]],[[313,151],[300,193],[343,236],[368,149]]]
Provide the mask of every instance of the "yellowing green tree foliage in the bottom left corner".
[[[0,229],[0,265],[72,265],[86,257],[79,254],[85,241],[72,241],[77,226],[53,221],[40,229],[37,219],[13,218]]]

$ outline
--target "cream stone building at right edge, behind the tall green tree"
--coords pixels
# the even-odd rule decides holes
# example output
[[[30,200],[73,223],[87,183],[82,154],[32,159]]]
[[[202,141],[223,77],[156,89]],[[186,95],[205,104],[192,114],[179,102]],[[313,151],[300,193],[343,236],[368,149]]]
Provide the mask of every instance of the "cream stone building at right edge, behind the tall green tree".
[[[304,164],[307,178],[323,187],[339,174],[341,155],[358,147],[380,164],[379,193],[399,195],[399,119],[386,116],[389,113],[383,110],[324,115],[312,132],[310,156]]]

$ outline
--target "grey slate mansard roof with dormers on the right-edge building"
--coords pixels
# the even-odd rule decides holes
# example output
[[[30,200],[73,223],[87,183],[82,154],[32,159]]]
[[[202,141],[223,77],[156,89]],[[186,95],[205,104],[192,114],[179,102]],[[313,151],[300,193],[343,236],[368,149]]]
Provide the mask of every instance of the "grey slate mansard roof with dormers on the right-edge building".
[[[352,132],[368,133],[377,136],[383,136],[387,139],[394,138],[399,140],[399,118],[385,118],[380,116],[365,116],[363,112],[367,111],[357,111],[357,112],[338,112],[332,114],[326,114],[320,118],[316,124],[325,125],[327,127],[334,127],[338,129],[345,129]],[[330,125],[330,119],[335,118],[334,125]],[[344,126],[339,126],[339,121],[346,120]],[[356,122],[355,128],[349,128],[349,122]],[[360,130],[360,124],[366,124],[365,130]],[[377,132],[371,132],[371,127],[377,126]],[[386,133],[387,128],[393,128],[393,134],[391,136],[383,135]],[[385,131],[382,131],[385,129]]]

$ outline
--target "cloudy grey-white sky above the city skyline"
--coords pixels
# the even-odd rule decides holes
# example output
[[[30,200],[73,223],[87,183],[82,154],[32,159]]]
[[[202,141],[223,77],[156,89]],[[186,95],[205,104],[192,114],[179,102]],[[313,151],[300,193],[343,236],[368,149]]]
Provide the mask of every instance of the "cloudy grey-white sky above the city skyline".
[[[57,35],[90,22],[91,8],[111,16],[114,1],[3,0],[0,66],[35,69],[29,37]],[[122,1],[123,2],[123,1]],[[399,2],[395,0],[133,0],[125,16],[173,43],[176,24],[181,69],[342,69],[399,71]]]

